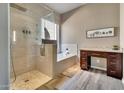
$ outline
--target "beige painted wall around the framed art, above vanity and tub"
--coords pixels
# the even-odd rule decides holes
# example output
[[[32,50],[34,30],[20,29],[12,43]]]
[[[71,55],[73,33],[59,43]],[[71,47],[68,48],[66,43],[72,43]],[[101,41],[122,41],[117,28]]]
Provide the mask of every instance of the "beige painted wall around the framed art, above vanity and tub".
[[[86,39],[87,30],[119,27],[119,12],[119,4],[86,4],[63,14],[62,43],[77,43],[79,48],[119,45],[119,28],[115,37]]]

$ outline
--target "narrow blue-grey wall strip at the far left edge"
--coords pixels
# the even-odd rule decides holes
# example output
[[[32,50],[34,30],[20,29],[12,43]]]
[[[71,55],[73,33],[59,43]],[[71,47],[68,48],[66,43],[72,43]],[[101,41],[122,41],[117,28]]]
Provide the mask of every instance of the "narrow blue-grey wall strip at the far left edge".
[[[8,4],[0,4],[0,90],[9,89],[9,19]]]

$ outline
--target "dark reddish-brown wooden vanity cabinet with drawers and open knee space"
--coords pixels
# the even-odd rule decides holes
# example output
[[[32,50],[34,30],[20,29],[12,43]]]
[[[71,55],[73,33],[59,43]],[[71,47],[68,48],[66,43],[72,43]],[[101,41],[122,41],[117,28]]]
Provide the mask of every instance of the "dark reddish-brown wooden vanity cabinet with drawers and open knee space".
[[[122,79],[123,53],[80,50],[81,69],[89,70],[91,66],[91,56],[106,58],[107,59],[107,75]]]

